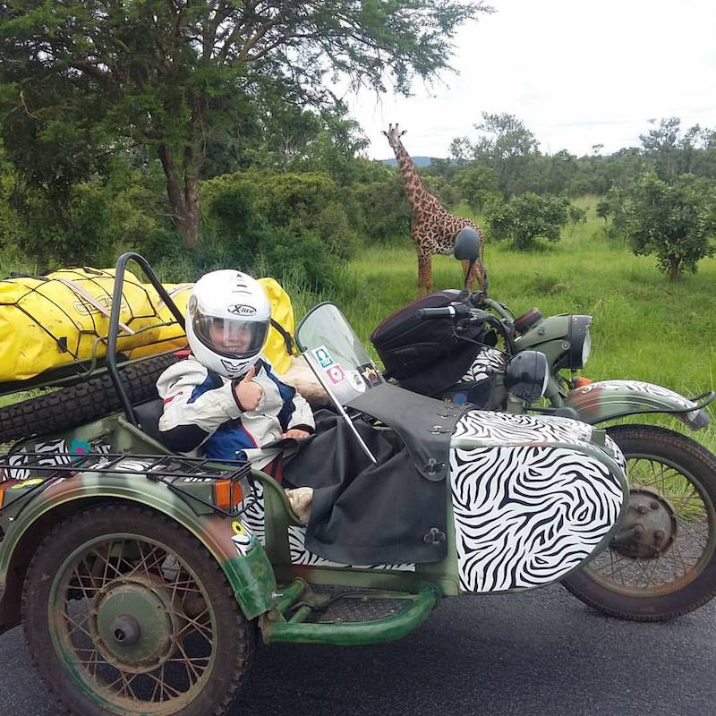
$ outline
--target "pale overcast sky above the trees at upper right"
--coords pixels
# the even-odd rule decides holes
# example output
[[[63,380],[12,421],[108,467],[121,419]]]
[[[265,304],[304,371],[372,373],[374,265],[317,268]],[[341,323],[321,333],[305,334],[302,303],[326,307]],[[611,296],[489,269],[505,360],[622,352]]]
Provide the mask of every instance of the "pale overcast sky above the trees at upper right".
[[[482,112],[517,115],[543,152],[581,155],[637,146],[650,118],[716,127],[714,0],[490,0],[456,38],[453,66],[412,98],[346,96],[371,140],[371,158],[392,157],[380,133],[408,131],[413,155],[447,157],[456,136],[476,136]]]

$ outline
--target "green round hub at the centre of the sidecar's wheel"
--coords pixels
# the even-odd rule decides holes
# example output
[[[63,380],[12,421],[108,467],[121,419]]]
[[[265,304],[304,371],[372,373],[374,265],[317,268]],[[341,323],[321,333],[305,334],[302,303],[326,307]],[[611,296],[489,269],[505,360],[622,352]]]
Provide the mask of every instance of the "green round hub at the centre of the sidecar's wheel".
[[[98,593],[90,618],[102,656],[125,671],[157,669],[175,651],[171,597],[148,576],[117,579]]]

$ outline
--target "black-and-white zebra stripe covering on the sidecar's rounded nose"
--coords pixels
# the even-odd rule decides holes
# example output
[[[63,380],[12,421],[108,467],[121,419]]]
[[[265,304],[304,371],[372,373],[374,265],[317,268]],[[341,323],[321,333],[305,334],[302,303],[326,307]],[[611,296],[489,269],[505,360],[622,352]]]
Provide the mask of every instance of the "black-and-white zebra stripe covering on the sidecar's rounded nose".
[[[450,451],[463,592],[554,582],[609,533],[624,499],[618,477],[592,456],[549,444],[584,444],[590,434],[588,425],[565,418],[465,414],[456,437],[495,445]]]

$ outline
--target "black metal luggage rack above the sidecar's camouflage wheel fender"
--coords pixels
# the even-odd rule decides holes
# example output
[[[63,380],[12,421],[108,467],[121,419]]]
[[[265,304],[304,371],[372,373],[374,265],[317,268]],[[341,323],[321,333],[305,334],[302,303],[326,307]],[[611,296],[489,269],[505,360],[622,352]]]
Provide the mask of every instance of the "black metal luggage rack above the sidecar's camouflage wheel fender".
[[[123,465],[124,463],[124,465]],[[13,472],[26,473],[23,478],[13,477]],[[40,473],[38,475],[38,473]],[[30,500],[60,480],[72,478],[78,473],[139,473],[153,482],[163,482],[170,490],[180,495],[192,507],[197,501],[205,507],[226,517],[235,517],[245,512],[256,502],[249,476],[251,464],[248,460],[223,460],[221,464],[206,457],[184,457],[175,455],[128,455],[126,453],[68,453],[68,452],[16,452],[0,456],[0,490],[4,482],[13,482],[13,488],[21,487],[22,482],[39,479],[23,490],[17,498],[8,502],[0,501],[0,512],[26,499],[21,510]],[[41,476],[40,476],[41,475]],[[195,478],[197,482],[230,481],[239,482],[243,500],[233,510],[221,507],[202,499],[192,491],[176,485],[178,479]],[[5,492],[5,490],[3,490]],[[193,508],[193,507],[192,507]],[[20,511],[21,511],[20,510]],[[19,512],[18,512],[19,514]]]

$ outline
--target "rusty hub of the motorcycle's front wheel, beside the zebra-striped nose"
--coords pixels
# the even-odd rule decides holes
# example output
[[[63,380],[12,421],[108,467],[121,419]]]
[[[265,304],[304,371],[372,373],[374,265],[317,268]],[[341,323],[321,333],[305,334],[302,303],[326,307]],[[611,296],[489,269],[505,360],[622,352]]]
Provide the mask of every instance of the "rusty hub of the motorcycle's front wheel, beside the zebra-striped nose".
[[[658,490],[633,487],[629,506],[619,523],[619,532],[630,533],[629,539],[612,546],[620,555],[632,559],[656,559],[673,544],[677,520],[669,500]]]

